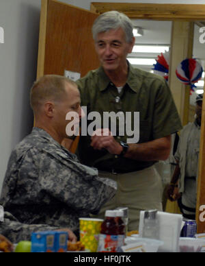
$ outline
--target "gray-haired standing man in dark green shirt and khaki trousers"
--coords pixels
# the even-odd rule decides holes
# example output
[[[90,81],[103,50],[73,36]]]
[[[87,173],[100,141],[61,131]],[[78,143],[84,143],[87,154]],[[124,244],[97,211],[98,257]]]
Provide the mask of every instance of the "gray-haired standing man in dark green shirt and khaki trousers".
[[[139,143],[128,144],[128,136],[118,131],[117,136],[111,132],[104,136],[107,129],[102,125],[94,136],[81,136],[79,157],[96,167],[100,176],[118,182],[117,195],[101,209],[100,217],[106,209],[128,207],[128,230],[137,230],[140,210],[162,210],[162,185],[154,163],[167,159],[170,135],[180,130],[181,123],[165,80],[134,69],[126,60],[135,45],[131,20],[119,12],[106,12],[92,31],[101,66],[77,82],[81,104],[87,106],[87,114],[96,111],[101,116],[139,112]]]

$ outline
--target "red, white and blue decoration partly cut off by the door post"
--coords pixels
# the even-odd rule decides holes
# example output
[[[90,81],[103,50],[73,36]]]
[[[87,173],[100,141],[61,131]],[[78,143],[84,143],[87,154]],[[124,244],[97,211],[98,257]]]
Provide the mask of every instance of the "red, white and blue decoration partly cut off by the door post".
[[[158,56],[156,59],[156,64],[154,64],[154,74],[161,75],[168,80],[169,77],[169,52],[161,53],[161,56]]]

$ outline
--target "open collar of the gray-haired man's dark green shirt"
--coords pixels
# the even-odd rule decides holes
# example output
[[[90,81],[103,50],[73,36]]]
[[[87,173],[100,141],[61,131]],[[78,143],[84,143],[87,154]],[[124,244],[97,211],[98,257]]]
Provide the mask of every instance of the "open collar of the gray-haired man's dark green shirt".
[[[109,84],[111,83],[111,80],[109,80],[109,77],[107,77],[102,66],[100,66],[100,68],[97,70],[97,73],[98,73],[98,86],[100,91],[106,90]],[[136,81],[136,69],[129,62],[128,62],[128,79],[126,81],[126,84],[128,84],[129,88],[131,88],[131,90],[133,90],[135,93],[137,93],[138,88],[141,86],[141,77],[139,77],[139,79],[137,78]]]

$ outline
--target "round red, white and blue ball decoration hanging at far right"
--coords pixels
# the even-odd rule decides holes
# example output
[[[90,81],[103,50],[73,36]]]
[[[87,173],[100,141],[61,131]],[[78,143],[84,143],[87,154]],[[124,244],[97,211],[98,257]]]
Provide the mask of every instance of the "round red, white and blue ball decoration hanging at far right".
[[[202,78],[203,69],[197,60],[193,58],[185,59],[176,68],[176,76],[185,85],[190,85],[195,91],[195,83]]]

